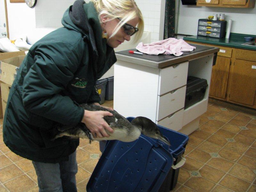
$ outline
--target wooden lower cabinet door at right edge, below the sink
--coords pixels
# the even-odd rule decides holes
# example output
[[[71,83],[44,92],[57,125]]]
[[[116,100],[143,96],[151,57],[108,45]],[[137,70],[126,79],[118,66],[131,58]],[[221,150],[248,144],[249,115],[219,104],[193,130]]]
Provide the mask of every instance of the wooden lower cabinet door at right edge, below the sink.
[[[256,91],[256,62],[236,59],[230,79],[229,100],[253,106]]]

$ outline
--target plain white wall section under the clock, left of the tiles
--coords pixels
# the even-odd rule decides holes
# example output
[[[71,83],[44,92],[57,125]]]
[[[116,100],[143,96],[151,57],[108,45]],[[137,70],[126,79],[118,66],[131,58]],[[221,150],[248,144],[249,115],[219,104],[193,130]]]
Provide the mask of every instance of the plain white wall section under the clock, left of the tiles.
[[[36,27],[35,8],[29,8],[25,3],[6,2],[10,39],[27,34]]]

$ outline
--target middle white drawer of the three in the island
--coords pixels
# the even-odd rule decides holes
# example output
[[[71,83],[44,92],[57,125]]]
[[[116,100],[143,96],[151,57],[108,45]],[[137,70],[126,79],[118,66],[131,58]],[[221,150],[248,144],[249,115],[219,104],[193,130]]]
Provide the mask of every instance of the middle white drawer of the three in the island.
[[[166,116],[174,113],[175,111],[184,108],[186,97],[186,86],[181,87],[177,90],[169,92],[165,95],[158,96],[157,107],[158,110],[156,112],[156,120],[159,121]]]

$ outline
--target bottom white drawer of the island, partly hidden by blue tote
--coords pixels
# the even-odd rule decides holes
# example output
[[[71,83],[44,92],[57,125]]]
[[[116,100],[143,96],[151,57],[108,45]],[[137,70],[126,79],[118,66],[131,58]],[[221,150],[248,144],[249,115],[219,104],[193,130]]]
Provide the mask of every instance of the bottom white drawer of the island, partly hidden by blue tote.
[[[184,109],[181,109],[156,123],[168,129],[179,131],[182,128],[183,113]]]

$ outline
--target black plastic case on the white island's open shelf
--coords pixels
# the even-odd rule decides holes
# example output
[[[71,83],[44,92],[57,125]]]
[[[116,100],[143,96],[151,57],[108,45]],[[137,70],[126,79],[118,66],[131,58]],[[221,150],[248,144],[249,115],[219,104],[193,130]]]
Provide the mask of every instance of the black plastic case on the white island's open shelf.
[[[188,76],[184,109],[203,100],[207,86],[208,84],[206,79]]]

